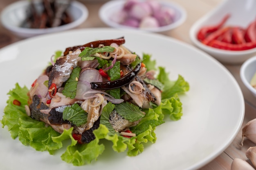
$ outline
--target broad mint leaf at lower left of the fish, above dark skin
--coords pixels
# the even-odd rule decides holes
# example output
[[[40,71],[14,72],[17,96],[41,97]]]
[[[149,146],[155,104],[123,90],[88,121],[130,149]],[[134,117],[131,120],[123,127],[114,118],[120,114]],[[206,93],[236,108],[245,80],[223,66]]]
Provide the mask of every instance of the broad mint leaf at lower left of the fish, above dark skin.
[[[63,120],[68,120],[76,126],[81,126],[87,122],[87,113],[77,104],[65,107]]]

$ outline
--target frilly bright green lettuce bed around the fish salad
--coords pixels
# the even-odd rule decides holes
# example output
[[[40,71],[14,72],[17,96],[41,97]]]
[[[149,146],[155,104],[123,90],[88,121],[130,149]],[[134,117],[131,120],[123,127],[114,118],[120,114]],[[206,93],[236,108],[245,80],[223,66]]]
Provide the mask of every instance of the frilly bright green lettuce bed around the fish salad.
[[[89,49],[83,54],[83,57],[87,56],[85,58],[88,59],[93,52],[95,51],[90,51]],[[148,54],[144,54],[144,56],[143,62],[146,64],[146,67],[148,69],[155,69],[155,60],[151,60]],[[105,65],[106,62],[102,62],[102,64]],[[99,128],[93,131],[95,140],[87,144],[81,145],[77,143],[72,137],[73,128],[64,130],[62,134],[59,134],[50,126],[46,127],[45,123],[27,116],[25,105],[27,105],[29,99],[27,96],[29,90],[27,87],[20,87],[18,83],[8,93],[9,99],[7,106],[4,108],[4,116],[1,120],[2,127],[7,126],[11,137],[13,139],[18,137],[23,145],[30,145],[38,151],[47,150],[50,154],[54,154],[54,151],[62,148],[64,141],[71,141],[70,145],[67,146],[65,152],[61,155],[61,159],[67,163],[72,163],[74,166],[82,166],[96,161],[99,155],[105,150],[104,141],[106,140],[112,142],[112,149],[115,152],[126,151],[128,156],[136,156],[143,152],[145,143],[155,143],[157,140],[154,132],[155,128],[164,123],[163,119],[165,115],[168,115],[174,121],[181,119],[182,116],[182,103],[178,94],[188,91],[189,84],[180,75],[176,81],[171,81],[163,67],[159,67],[157,78],[164,85],[162,88],[162,102],[159,106],[152,105],[152,108],[138,109],[136,107],[134,108],[133,105],[127,105],[128,103],[114,105],[109,102],[103,107]],[[20,101],[21,105],[13,105],[14,99]],[[131,121],[135,119],[141,120],[138,125],[130,128],[136,134],[135,137],[124,137],[112,128],[108,119],[114,108],[119,110],[118,112],[121,112],[123,117],[126,115],[126,119],[130,119]],[[135,112],[134,110],[137,111],[135,114],[130,114],[129,110],[132,110],[132,112]],[[140,115],[141,111],[145,115]]]

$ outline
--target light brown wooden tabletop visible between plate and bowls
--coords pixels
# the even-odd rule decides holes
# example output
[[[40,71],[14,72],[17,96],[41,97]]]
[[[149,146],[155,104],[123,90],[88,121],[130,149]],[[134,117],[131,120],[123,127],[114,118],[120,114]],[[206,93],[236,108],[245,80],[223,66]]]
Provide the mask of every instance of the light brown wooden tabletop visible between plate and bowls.
[[[89,10],[88,19],[81,25],[79,28],[90,28],[90,27],[107,27],[103,22],[101,22],[98,11],[102,4],[106,1],[104,0],[80,0]],[[209,12],[211,9],[215,8],[218,4],[222,2],[222,0],[170,0],[180,4],[187,12],[186,21],[176,29],[171,31],[166,31],[162,34],[166,36],[171,36],[178,40],[182,40],[188,44],[191,44],[191,40],[189,38],[189,29],[193,25],[195,21],[197,21],[201,16]],[[4,7],[8,4],[15,2],[15,0],[1,0],[0,2],[0,12]],[[17,42],[22,40],[22,38],[18,38],[5,29],[0,24],[0,48],[7,46],[13,42]],[[245,98],[245,118],[242,127],[249,121],[256,118],[256,98],[246,89],[245,85],[243,85],[240,76],[239,70],[241,65],[227,65],[225,67],[231,72],[231,74],[236,78],[240,88],[243,91],[243,95]],[[244,146],[238,149],[237,143],[239,143],[242,139],[242,132],[239,131],[238,135],[234,139],[234,141],[229,145],[229,147],[222,152],[216,159],[208,163],[207,165],[200,168],[200,170],[230,170],[231,163],[233,159],[240,158],[247,160],[245,156],[246,150],[250,146],[254,146],[256,144],[252,143],[249,140],[245,140]]]

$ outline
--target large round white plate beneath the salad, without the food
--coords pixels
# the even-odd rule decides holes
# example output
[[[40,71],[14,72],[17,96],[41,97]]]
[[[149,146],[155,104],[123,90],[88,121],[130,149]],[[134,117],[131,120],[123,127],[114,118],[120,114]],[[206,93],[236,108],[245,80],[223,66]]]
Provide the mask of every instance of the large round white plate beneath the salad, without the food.
[[[170,78],[181,74],[190,90],[180,95],[182,119],[156,129],[157,141],[148,144],[137,157],[115,153],[111,146],[96,162],[74,167],[61,160],[63,152],[49,155],[13,140],[7,128],[0,128],[0,165],[4,170],[186,170],[198,169],[217,157],[233,141],[244,117],[243,94],[234,77],[208,54],[159,34],[115,29],[78,29],[22,40],[0,49],[0,117],[7,92],[16,82],[30,87],[56,50],[99,39],[124,36],[126,47],[137,54],[152,54]]]

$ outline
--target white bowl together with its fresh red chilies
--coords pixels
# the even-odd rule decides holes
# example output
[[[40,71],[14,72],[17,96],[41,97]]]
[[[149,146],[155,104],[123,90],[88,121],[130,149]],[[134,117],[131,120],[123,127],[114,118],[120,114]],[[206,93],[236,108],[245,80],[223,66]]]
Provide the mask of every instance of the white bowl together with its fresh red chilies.
[[[221,63],[240,64],[256,55],[256,1],[250,6],[245,1],[225,0],[195,22],[193,44]]]

